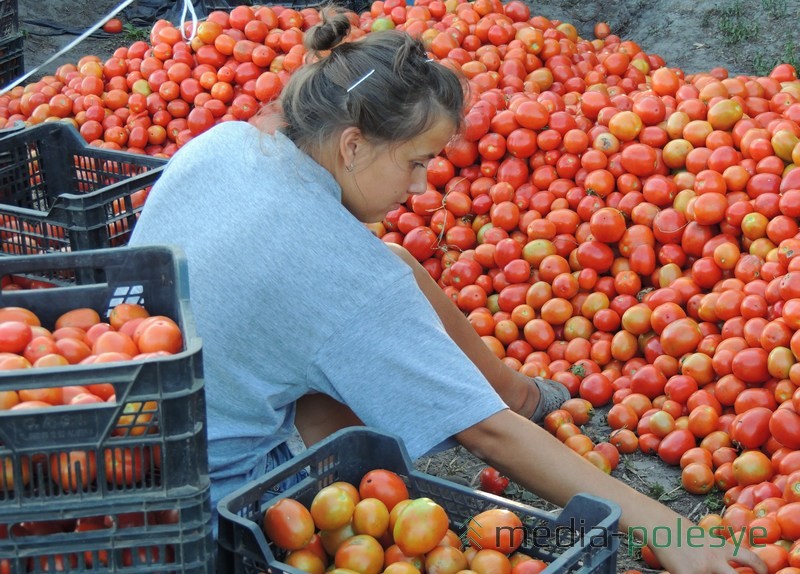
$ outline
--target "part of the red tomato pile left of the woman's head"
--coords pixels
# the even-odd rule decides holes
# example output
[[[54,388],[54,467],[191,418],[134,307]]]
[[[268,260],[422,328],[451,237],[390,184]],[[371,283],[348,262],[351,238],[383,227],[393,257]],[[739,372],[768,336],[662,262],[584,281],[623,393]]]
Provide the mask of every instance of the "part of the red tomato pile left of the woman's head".
[[[366,33],[352,18],[353,37]],[[191,42],[160,20],[149,43],[106,60],[84,56],[0,95],[0,129],[66,121],[91,145],[169,157],[214,124],[247,120],[275,99],[303,63],[303,31],[319,20],[315,8],[240,6],[209,14],[193,36],[188,22]]]

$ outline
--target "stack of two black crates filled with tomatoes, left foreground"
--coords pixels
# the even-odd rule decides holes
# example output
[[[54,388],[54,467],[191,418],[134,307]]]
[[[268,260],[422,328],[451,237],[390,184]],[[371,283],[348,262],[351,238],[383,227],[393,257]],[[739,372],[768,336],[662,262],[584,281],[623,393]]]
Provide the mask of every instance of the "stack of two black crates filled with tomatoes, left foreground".
[[[0,292],[0,571],[212,572],[182,255],[120,247],[3,270],[82,279]]]

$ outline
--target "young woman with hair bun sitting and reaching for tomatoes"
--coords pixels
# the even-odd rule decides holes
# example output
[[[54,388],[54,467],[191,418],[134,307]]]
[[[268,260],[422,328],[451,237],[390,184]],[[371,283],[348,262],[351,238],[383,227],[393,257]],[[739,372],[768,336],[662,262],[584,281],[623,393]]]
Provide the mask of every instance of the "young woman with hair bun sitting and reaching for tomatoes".
[[[214,503],[291,456],[295,428],[311,444],[367,424],[412,457],[455,438],[556,504],[593,493],[621,505],[624,528],[685,539],[686,519],[532,422],[563,387],[506,367],[412,257],[363,225],[425,192],[427,162],[461,125],[464,86],[407,35],[343,42],[349,30],[333,13],[307,32],[313,61],[261,129],[224,123],[182,148],[131,241],[177,244],[188,260]],[[673,574],[722,573],[732,552],[658,555]],[[736,559],[766,572],[745,549]]]

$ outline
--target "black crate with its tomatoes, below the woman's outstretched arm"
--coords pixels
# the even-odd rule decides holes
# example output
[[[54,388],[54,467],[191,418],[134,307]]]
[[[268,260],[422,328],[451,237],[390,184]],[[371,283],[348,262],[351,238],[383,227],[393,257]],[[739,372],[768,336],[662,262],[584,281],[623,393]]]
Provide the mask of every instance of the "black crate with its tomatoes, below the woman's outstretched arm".
[[[474,491],[414,470],[399,439],[369,428],[331,435],[218,509],[220,572],[616,572],[615,504],[577,495],[550,514]]]

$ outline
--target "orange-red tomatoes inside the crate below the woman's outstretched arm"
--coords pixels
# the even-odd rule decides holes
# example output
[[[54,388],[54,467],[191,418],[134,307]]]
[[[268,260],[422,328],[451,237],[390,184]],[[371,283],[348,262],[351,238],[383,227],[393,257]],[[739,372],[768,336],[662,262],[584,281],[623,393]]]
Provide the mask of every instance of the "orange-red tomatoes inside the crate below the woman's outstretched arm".
[[[358,486],[322,488],[308,508],[281,498],[262,526],[285,552],[282,561],[309,574],[536,574],[547,566],[517,551],[522,521],[510,510],[471,517],[462,539],[444,507],[410,498],[403,479],[385,469],[367,472]]]

